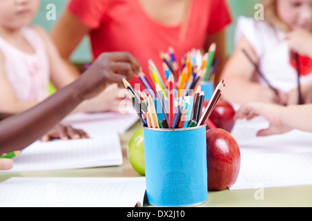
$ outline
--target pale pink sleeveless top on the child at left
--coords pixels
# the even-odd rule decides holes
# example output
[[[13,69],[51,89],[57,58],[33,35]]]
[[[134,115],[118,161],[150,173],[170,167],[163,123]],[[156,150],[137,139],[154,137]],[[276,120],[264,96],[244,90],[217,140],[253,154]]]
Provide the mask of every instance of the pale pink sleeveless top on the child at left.
[[[35,50],[29,54],[15,48],[0,37],[0,51],[4,58],[4,70],[15,95],[20,101],[41,102],[48,97],[50,79],[49,58],[46,46],[31,27],[21,30],[23,37]]]

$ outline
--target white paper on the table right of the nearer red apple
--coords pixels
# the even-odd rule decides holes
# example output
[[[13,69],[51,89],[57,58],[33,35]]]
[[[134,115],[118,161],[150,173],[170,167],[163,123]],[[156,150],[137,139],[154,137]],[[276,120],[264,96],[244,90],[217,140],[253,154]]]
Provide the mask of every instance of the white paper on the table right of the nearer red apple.
[[[312,134],[291,131],[256,137],[268,122],[238,121],[232,131],[241,150],[241,169],[230,190],[312,184]]]

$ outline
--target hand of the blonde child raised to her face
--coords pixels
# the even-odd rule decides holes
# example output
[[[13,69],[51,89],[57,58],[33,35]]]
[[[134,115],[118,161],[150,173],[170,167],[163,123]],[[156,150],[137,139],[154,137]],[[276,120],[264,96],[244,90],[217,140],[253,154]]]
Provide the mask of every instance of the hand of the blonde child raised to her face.
[[[312,57],[312,33],[308,30],[298,29],[286,35],[289,41],[289,50],[300,55]]]

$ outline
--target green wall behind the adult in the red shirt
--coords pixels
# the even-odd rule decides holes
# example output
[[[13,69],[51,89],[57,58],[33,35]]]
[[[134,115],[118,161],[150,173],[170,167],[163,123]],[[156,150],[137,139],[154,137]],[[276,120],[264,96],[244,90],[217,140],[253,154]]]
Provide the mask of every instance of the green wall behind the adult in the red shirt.
[[[92,1],[92,0],[89,0]],[[132,0],[129,0],[132,1]],[[202,0],[202,1],[214,1],[214,0]],[[245,15],[252,17],[254,15],[254,5],[259,2],[259,0],[227,0],[229,7],[232,12],[233,22],[232,25],[227,29],[227,55],[230,55],[233,48],[233,36],[236,26],[237,18],[240,15]],[[60,17],[64,7],[67,4],[67,0],[41,0],[40,11],[35,17],[33,24],[38,24],[46,28],[47,31],[50,31],[53,27],[55,21],[49,21],[46,19],[46,13],[49,12],[49,9],[46,9],[46,6],[49,3],[53,3],[56,6],[56,19]],[[71,56],[71,61],[75,63],[87,63],[91,60],[90,50],[89,50],[89,39],[85,37],[80,46],[73,52]]]

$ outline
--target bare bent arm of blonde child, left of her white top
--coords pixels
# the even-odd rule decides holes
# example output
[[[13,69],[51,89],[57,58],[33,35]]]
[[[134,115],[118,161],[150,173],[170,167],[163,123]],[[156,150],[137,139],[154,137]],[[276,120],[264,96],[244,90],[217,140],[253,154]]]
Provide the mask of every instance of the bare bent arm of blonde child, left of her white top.
[[[252,81],[255,68],[243,54],[243,49],[248,52],[254,62],[258,61],[252,46],[243,36],[236,44],[232,56],[223,69],[223,79],[226,82],[223,97],[236,103],[269,102],[280,104],[285,102],[284,95],[281,93],[277,96],[268,86]]]

